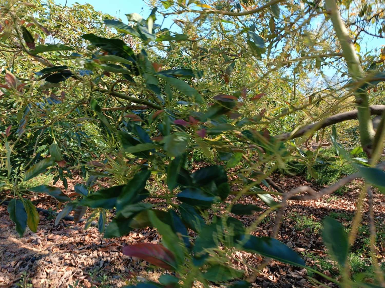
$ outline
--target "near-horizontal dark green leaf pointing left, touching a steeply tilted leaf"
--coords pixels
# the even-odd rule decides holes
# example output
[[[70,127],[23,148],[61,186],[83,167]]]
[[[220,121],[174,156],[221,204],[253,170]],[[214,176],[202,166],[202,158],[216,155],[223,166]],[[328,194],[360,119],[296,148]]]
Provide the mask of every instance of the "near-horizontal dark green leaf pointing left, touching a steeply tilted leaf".
[[[116,205],[116,200],[122,193],[125,185],[113,186],[107,189],[100,189],[82,199],[79,205],[91,208],[112,209]]]

